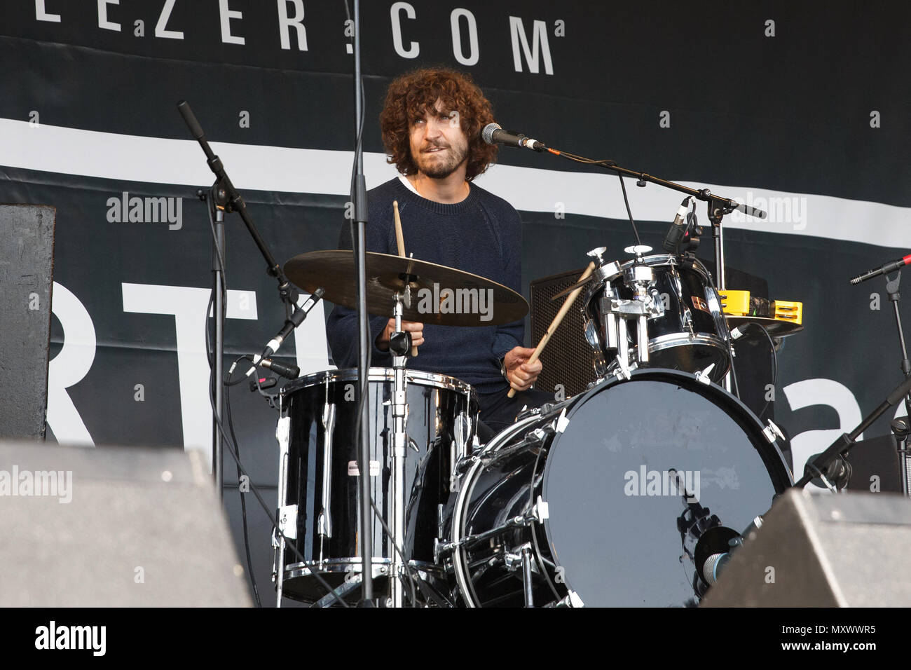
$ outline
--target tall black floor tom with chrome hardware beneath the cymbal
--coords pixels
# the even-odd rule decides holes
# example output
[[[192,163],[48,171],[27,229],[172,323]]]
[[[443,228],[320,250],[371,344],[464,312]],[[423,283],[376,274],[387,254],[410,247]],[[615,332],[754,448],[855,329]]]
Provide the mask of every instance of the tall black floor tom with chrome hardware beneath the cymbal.
[[[455,377],[417,370],[405,372],[408,415],[405,431],[404,556],[415,570],[435,574],[434,543],[438,516],[450,492],[455,462],[471,448],[477,421],[475,391]],[[329,370],[303,376],[281,391],[281,407],[291,419],[288,469],[281,499],[297,505],[297,549],[284,551],[283,593],[316,602],[326,590],[312,575],[319,572],[333,588],[356,601],[362,561],[358,541],[360,470],[355,446],[357,427],[357,370]],[[371,495],[386,515],[392,504],[390,488],[394,420],[394,370],[371,368],[370,416]],[[393,548],[382,524],[372,519],[374,580],[385,588]],[[273,579],[277,576],[276,551]],[[331,597],[331,596],[330,596]],[[331,601],[325,600],[325,603]]]

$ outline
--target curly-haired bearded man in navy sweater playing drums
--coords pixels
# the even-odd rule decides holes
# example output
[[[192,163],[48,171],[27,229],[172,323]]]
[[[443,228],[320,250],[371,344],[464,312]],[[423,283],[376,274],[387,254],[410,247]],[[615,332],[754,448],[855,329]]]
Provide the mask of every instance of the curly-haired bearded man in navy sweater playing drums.
[[[496,160],[496,145],[486,144],[480,134],[493,120],[490,102],[466,74],[420,69],[390,84],[380,126],[387,160],[400,174],[367,192],[368,252],[398,253],[393,216],[393,201],[398,201],[405,253],[522,292],[519,214],[473,183]],[[352,248],[350,222],[342,225],[339,248]],[[441,286],[440,291],[457,288]],[[475,304],[479,311],[485,306],[481,300]],[[491,318],[482,312],[479,323]],[[394,329],[394,319],[370,317],[372,366],[392,366],[389,337]],[[531,388],[541,362],[528,363],[534,349],[522,346],[522,321],[470,327],[403,321],[403,329],[418,352],[409,366],[455,376],[475,387],[481,421],[493,432],[513,423],[522,407],[554,399]],[[335,364],[356,367],[353,310],[336,305],[326,332]],[[507,398],[509,387],[518,391],[515,397]],[[479,434],[482,441],[492,435],[483,428]]]

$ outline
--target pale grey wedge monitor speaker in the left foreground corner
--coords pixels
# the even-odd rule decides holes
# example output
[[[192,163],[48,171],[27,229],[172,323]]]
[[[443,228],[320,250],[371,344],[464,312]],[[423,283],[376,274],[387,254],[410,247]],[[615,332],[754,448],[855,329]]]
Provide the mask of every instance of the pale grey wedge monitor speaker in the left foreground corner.
[[[198,452],[0,443],[0,606],[250,606]]]

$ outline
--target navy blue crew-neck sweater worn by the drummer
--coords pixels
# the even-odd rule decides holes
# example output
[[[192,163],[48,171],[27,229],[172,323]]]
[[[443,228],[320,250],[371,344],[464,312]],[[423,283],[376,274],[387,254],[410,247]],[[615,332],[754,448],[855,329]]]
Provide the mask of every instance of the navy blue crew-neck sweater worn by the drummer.
[[[479,274],[522,293],[522,222],[507,201],[471,184],[464,201],[442,204],[415,194],[398,178],[389,180],[367,192],[368,252],[398,253],[393,201],[399,203],[406,254]],[[352,248],[350,222],[342,225],[339,248]],[[370,317],[373,366],[392,366],[389,353],[375,344],[387,322],[384,316]],[[408,366],[455,376],[480,393],[502,391],[507,382],[500,374],[499,359],[522,345],[523,329],[522,321],[479,327],[425,325],[425,343]],[[357,314],[335,305],[326,322],[326,335],[335,365],[356,367]]]

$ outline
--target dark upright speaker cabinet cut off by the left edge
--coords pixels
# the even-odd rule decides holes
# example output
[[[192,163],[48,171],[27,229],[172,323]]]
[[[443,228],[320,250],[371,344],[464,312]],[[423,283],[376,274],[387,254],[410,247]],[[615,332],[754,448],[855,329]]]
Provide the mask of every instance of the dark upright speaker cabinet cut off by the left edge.
[[[55,213],[0,204],[0,438],[45,438]]]

